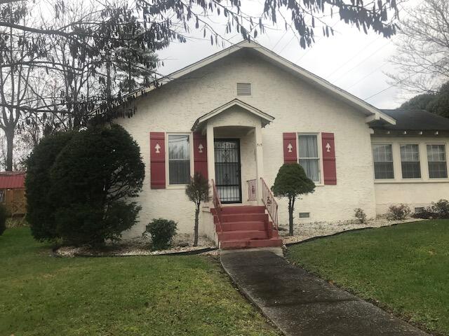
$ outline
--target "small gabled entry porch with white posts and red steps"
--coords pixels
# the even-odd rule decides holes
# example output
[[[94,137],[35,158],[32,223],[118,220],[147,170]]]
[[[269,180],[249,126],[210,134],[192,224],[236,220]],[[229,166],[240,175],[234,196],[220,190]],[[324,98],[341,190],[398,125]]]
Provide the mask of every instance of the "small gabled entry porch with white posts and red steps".
[[[262,127],[273,120],[234,99],[192,127],[199,134],[194,139],[195,172],[206,173],[213,186],[209,221],[220,248],[282,244],[276,200],[263,179]]]

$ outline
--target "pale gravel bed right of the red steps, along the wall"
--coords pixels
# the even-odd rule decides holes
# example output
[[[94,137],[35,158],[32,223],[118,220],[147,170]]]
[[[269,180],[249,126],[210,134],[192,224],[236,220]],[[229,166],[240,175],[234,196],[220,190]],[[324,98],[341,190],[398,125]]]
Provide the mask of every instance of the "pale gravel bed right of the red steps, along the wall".
[[[388,221],[387,218],[371,218],[366,223],[358,221],[338,221],[338,222],[314,222],[300,223],[294,226],[293,236],[288,236],[288,224],[279,225],[279,235],[283,240],[283,244],[297,243],[306,239],[333,235],[338,232],[362,228],[380,228],[382,226],[390,226],[399,223],[408,223],[415,221],[423,221],[417,218],[407,218],[403,221]]]

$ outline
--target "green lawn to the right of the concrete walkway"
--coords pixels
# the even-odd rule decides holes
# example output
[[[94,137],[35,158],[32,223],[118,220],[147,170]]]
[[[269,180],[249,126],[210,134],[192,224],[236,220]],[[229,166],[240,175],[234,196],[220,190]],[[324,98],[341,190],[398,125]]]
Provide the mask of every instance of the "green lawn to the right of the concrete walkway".
[[[290,246],[288,259],[398,316],[449,335],[449,221],[348,232]]]

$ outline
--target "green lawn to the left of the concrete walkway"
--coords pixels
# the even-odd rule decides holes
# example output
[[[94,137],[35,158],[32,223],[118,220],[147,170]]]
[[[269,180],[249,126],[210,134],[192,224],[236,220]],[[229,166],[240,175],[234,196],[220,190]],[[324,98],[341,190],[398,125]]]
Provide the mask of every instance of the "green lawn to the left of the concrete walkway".
[[[279,335],[212,258],[54,258],[11,228],[0,269],[0,335]]]

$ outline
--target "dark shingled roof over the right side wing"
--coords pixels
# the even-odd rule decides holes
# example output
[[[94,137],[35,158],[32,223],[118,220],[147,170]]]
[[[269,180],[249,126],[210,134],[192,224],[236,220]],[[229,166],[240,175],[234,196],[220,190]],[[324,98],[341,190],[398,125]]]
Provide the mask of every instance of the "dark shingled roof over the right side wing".
[[[378,130],[449,131],[449,119],[425,110],[382,110],[396,120],[396,125],[373,125]]]

